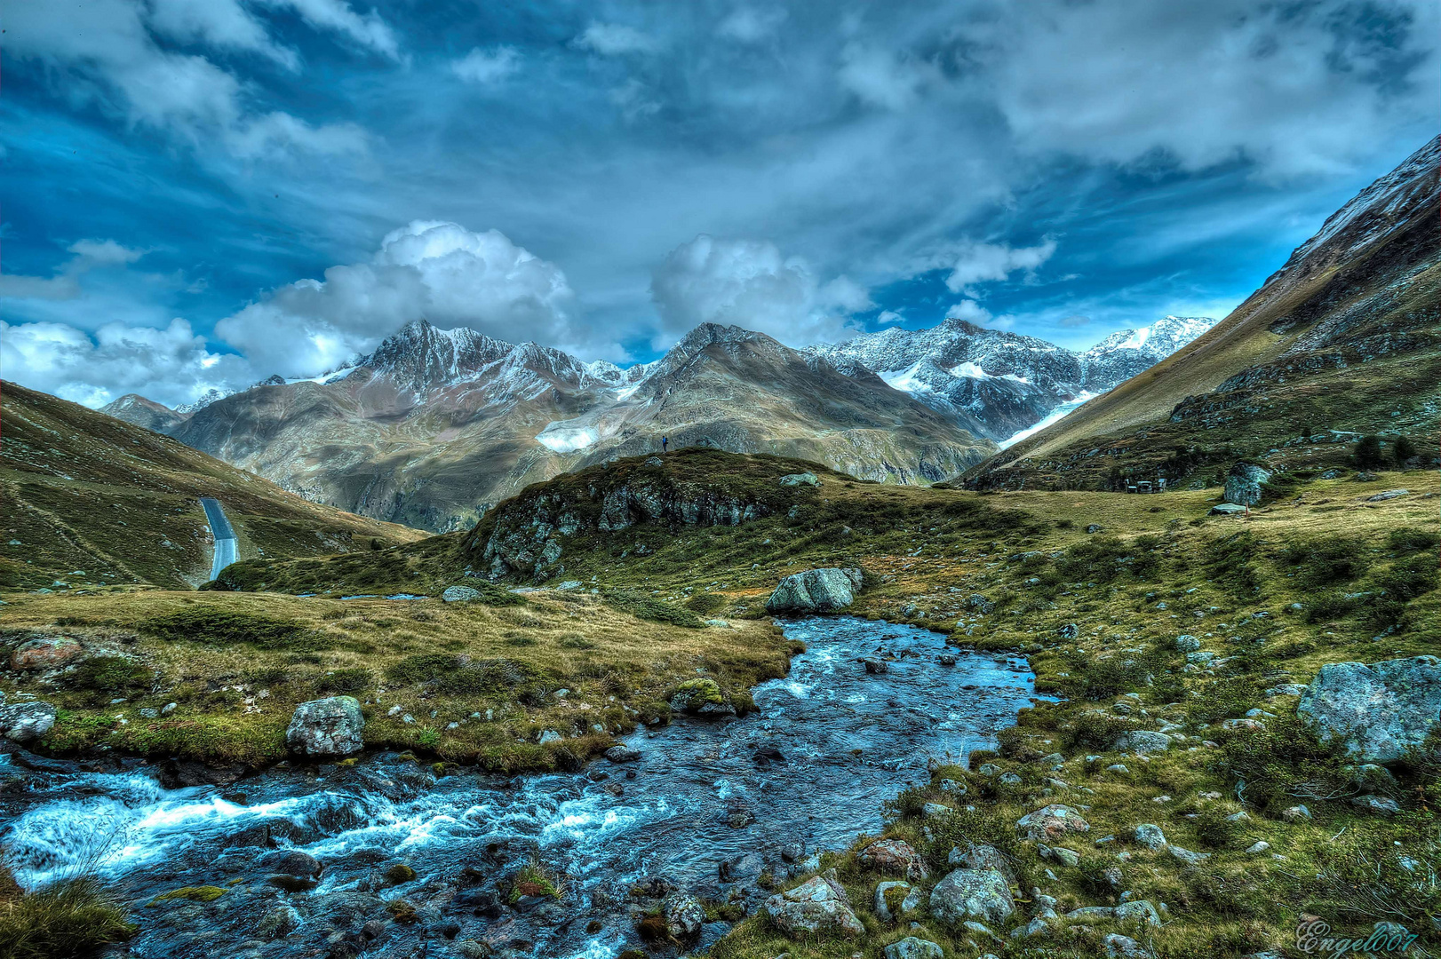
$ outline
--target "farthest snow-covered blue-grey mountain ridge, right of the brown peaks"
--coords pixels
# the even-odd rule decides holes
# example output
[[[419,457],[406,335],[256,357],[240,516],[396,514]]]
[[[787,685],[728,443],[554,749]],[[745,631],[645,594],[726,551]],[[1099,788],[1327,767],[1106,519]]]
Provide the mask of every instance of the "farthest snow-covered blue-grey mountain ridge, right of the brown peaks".
[[[1213,323],[1206,317],[1166,317],[1148,327],[1114,333],[1076,353],[953,318],[929,330],[882,330],[808,351],[847,374],[873,372],[965,429],[1004,439],[1058,406],[1128,380]]]

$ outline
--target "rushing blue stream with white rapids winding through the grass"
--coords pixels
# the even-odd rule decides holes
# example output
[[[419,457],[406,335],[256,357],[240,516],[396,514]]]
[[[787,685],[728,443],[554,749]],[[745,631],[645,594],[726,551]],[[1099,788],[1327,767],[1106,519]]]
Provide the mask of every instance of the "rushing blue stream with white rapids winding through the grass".
[[[9,765],[0,844],[26,886],[91,871],[128,900],[141,930],[115,955],[460,956],[476,939],[499,956],[608,959],[641,945],[635,920],[656,894],[754,910],[762,871],[784,877],[788,863],[878,831],[882,803],[924,782],[931,760],[993,744],[1033,698],[1023,659],[961,652],[942,665],[934,632],[852,618],[785,632],[807,651],[757,687],[757,713],[637,731],[625,739],[637,762],[437,778],[379,755],[184,789],[163,789],[137,760]],[[889,671],[867,674],[860,658],[879,654],[893,657]],[[274,884],[287,850],[324,864],[314,888]],[[388,884],[399,863],[415,878]],[[526,863],[563,875],[563,896],[507,903]],[[226,891],[153,901],[196,886]],[[411,922],[362,933],[402,899]],[[709,923],[697,949],[725,929]]]

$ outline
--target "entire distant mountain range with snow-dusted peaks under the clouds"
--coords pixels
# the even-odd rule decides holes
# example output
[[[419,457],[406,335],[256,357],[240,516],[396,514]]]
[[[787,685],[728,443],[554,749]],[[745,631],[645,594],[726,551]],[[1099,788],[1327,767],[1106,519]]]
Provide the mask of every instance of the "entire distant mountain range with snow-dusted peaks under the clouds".
[[[416,320],[324,376],[179,409],[127,395],[104,412],[317,503],[447,531],[530,482],[653,452],[661,436],[866,480],[948,480],[1206,324],[1169,317],[1085,353],[955,320],[807,350],[705,324],[621,369]]]

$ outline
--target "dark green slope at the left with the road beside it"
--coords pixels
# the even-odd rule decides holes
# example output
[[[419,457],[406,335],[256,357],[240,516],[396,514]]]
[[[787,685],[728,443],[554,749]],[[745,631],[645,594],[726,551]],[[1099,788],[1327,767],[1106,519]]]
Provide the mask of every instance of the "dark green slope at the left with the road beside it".
[[[313,556],[409,543],[416,530],[307,503],[169,436],[0,386],[0,586],[58,589],[206,580],[216,497],[242,556]]]

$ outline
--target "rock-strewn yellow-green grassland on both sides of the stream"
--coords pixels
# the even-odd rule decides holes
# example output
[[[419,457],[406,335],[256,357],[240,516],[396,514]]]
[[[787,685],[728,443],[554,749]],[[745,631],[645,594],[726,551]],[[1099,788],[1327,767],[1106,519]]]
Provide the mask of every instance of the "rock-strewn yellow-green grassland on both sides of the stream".
[[[818,487],[778,482],[803,467],[716,452],[659,467],[620,461],[532,487],[470,536],[232,567],[232,587],[264,582],[333,590],[329,598],[45,596],[16,602],[9,616],[97,649],[115,638],[147,677],[128,680],[137,688],[124,711],[180,703],[173,721],[120,726],[115,707],[99,706],[120,680],[105,680],[105,688],[73,678],[50,691],[29,687],[63,697],[52,749],[112,743],[265,760],[293,701],[344,690],[366,703],[369,742],[522,769],[572,763],[617,729],[663,719],[660,701],[696,670],[744,707],[745,687],[781,674],[795,652],[764,618],[775,583],[814,566],[859,564],[866,586],[857,615],[925,625],[961,648],[1019,651],[1038,690],[1061,698],[1025,710],[997,753],[974,755],[965,769],[940,767],[931,783],[886,806],[885,835],[911,842],[929,867],[924,890],[951,868],[953,847],[991,844],[1017,875],[1017,910],[989,923],[990,933],[927,916],[916,927],[883,922],[872,909],[875,887],[892,877],[860,863],[862,838],[821,865],[836,870],[865,937],[791,940],[762,913],[739,922],[713,955],[879,959],[886,945],[915,935],[947,955],[1020,956],[1043,946],[1072,958],[1105,955],[1102,937],[1124,933],[1157,959],[1209,959],[1285,947],[1306,914],[1360,935],[1379,920],[1429,929],[1441,914],[1429,880],[1441,871],[1441,752],[1418,755],[1392,779],[1362,782],[1297,723],[1293,685],[1326,662],[1441,648],[1434,474],[1293,477],[1236,518],[1208,514],[1215,488],[977,494],[859,482],[823,468],[811,469]],[[757,510],[732,526],[638,521],[602,530],[602,514],[581,507],[607,494],[614,501],[621,487],[672,491],[692,504],[731,497]],[[1372,500],[1395,488],[1409,492]],[[556,533],[555,566],[563,570],[549,570],[546,582],[578,587],[517,596],[465,575],[481,569],[486,544],[507,536],[507,523],[519,528],[558,504],[576,515],[574,528]],[[402,585],[434,595],[454,583],[477,586],[483,600],[457,608],[336,599]],[[708,618],[732,628],[697,628]],[[275,622],[291,625],[277,632]],[[1199,649],[1179,648],[1180,635]],[[558,685],[572,691],[563,703],[546,695]],[[268,698],[259,698],[262,688]],[[432,698],[422,704],[425,695]],[[416,723],[403,723],[405,711]],[[1117,747],[1121,733],[1159,727],[1173,736],[1166,752]],[[566,739],[540,747],[543,729]],[[1353,805],[1363,785],[1401,812],[1388,818]],[[1014,827],[1052,802],[1074,806],[1091,827],[1055,841],[1061,852],[1017,838]],[[1310,818],[1288,812],[1295,805]],[[1138,845],[1131,837],[1141,824],[1202,855]],[[774,875],[772,888],[784,888],[810,873]],[[1130,893],[1157,909],[1164,903],[1164,924],[1062,916],[1022,943],[1010,933],[1029,922],[1038,888],[1061,913],[1115,906]],[[723,904],[712,906],[720,914]]]

